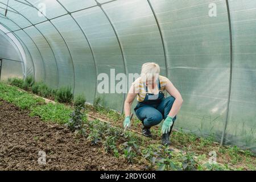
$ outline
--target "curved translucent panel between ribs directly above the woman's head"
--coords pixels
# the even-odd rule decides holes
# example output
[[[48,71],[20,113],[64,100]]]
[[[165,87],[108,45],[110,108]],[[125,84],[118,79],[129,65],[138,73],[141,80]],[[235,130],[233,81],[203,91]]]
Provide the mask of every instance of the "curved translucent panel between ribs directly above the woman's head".
[[[158,63],[166,76],[162,40],[147,1],[115,1],[102,6],[123,47],[129,73],[141,73],[145,60]]]

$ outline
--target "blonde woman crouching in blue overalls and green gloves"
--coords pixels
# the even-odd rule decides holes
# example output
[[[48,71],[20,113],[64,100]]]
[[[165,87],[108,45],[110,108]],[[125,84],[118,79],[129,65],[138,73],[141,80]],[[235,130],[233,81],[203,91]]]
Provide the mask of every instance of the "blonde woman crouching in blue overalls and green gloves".
[[[150,128],[162,124],[162,144],[170,145],[170,135],[176,115],[179,112],[183,99],[180,92],[172,82],[164,76],[160,76],[160,68],[156,63],[145,63],[142,65],[141,77],[137,78],[131,85],[125,101],[124,127],[130,127],[131,105],[137,97],[137,106],[134,108],[138,119],[142,121],[142,133],[146,137],[152,137]],[[164,96],[164,91],[170,97]]]

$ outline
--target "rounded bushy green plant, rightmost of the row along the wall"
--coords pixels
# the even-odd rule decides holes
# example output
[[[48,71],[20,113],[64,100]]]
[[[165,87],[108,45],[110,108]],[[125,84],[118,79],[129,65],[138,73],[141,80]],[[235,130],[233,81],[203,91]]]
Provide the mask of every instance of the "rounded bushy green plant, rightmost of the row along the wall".
[[[59,102],[70,103],[73,99],[73,94],[71,92],[70,86],[61,87],[57,90],[55,98]]]

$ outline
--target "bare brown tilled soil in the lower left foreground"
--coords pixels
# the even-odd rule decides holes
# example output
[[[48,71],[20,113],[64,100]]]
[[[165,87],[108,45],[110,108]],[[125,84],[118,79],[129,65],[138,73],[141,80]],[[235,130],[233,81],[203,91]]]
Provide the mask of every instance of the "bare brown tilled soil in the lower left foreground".
[[[39,151],[46,164],[39,164]],[[0,170],[140,170],[105,154],[61,125],[30,117],[29,111],[0,100]]]

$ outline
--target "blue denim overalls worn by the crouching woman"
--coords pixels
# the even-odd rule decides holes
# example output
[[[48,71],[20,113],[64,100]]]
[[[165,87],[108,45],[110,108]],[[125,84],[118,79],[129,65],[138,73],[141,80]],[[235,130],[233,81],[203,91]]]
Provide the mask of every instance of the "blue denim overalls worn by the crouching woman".
[[[170,113],[171,107],[174,104],[175,98],[170,96],[165,98],[164,93],[160,90],[161,84],[158,78],[159,94],[148,93],[146,86],[146,96],[144,101],[138,102],[134,108],[138,119],[142,121],[145,127],[152,127],[158,125],[163,119],[166,119]],[[176,120],[176,116],[173,121]],[[173,125],[172,125],[173,127]]]

